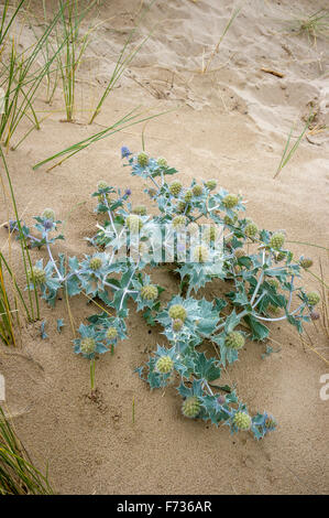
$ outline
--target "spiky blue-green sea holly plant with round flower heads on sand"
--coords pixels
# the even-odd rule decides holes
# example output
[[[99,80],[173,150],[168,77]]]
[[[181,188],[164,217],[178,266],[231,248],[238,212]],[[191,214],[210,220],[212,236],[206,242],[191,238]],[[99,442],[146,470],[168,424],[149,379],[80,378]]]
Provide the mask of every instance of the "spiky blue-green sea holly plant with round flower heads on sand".
[[[174,385],[186,418],[264,438],[275,430],[275,419],[267,412],[252,414],[237,387],[223,385],[221,375],[248,350],[250,339],[262,345],[262,357],[268,356],[272,323],[287,321],[301,333],[316,319],[320,296],[300,285],[311,259],[295,259],[285,246],[285,230],[260,228],[245,216],[242,195],[218,187],[216,180],[184,185],[173,179],[177,171],[163,158],[152,159],[144,151],[135,155],[125,147],[121,154],[144,184],[152,209],[132,204],[130,190],[121,192],[100,180],[92,194],[99,223],[86,238],[94,253],[67,260],[58,253],[54,259],[53,248],[64,237],[52,209],[35,218],[34,230],[21,224],[30,245],[48,252],[48,262],[39,260],[33,268],[43,299],[54,306],[64,290],[68,298],[84,293],[103,307],[80,324],[74,339],[75,353],[90,361],[92,393],[95,360],[113,354],[127,337],[132,304],[164,335],[149,360],[135,368],[141,379],[151,389]],[[15,226],[11,222],[11,230]],[[164,303],[164,289],[152,272],[166,263],[177,289]],[[226,289],[212,300],[200,296],[200,289],[216,279]]]

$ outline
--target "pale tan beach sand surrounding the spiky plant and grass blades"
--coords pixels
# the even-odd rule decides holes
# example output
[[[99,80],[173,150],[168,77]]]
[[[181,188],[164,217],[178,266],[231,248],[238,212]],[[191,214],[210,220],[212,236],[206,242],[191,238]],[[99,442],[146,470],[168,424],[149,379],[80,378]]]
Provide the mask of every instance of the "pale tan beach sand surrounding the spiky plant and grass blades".
[[[41,15],[41,3],[32,11]],[[47,2],[52,4],[53,2]],[[293,6],[292,6],[293,3]],[[248,214],[260,227],[285,229],[290,241],[328,246],[328,132],[308,134],[276,180],[276,171],[293,123],[303,129],[310,102],[316,123],[329,123],[328,40],[316,42],[288,31],[287,20],[300,10],[328,8],[322,1],[244,1],[211,67],[200,74],[202,58],[211,53],[230,17],[231,1],[157,1],[142,21],[152,37],[108,97],[97,122],[86,126],[90,104],[102,91],[109,71],[127,37],[140,0],[105,1],[98,20],[106,22],[94,34],[79,71],[75,123],[63,123],[63,99],[56,91],[51,107],[39,99],[40,110],[52,110],[40,131],[34,131],[8,164],[20,213],[28,224],[44,207],[53,207],[65,222],[65,241],[54,252],[79,256],[90,252],[84,237],[91,236],[97,216],[90,194],[101,179],[132,190],[132,199],[145,202],[138,179],[122,169],[120,148],[142,147],[142,126],[135,126],[78,153],[62,166],[35,172],[32,165],[70,143],[109,126],[141,105],[152,114],[172,110],[144,127],[146,150],[166,157],[187,184],[218,179],[248,201]],[[28,25],[21,35],[31,39]],[[262,71],[273,69],[275,76]],[[0,223],[7,220],[1,194]],[[0,229],[0,247],[7,235]],[[311,256],[312,271],[322,262],[328,283],[328,255],[320,248],[292,242],[297,257]],[[32,251],[33,260],[46,257]],[[23,282],[18,246],[12,261]],[[156,282],[177,291],[166,269]],[[319,288],[305,276],[307,288]],[[208,287],[206,296],[216,295]],[[84,296],[72,301],[76,325],[92,309]],[[238,393],[251,412],[267,410],[278,429],[256,442],[249,433],[230,435],[189,421],[180,413],[173,388],[147,389],[133,369],[147,353],[164,344],[161,328],[147,328],[130,305],[129,338],[114,357],[97,361],[99,401],[88,398],[89,366],[73,354],[72,331],[65,301],[55,310],[42,304],[48,339],[41,339],[40,323],[26,325],[18,349],[1,347],[0,371],[6,376],[7,404],[17,431],[59,494],[325,494],[329,489],[328,409],[320,399],[320,376],[328,373],[329,347],[322,327],[307,325],[310,349],[285,323],[273,325],[279,352],[262,359],[265,346],[248,343],[240,361],[229,369]],[[56,332],[56,319],[65,327]],[[273,344],[272,344],[273,345]],[[315,349],[315,350],[314,350]],[[135,422],[132,423],[132,400]]]

